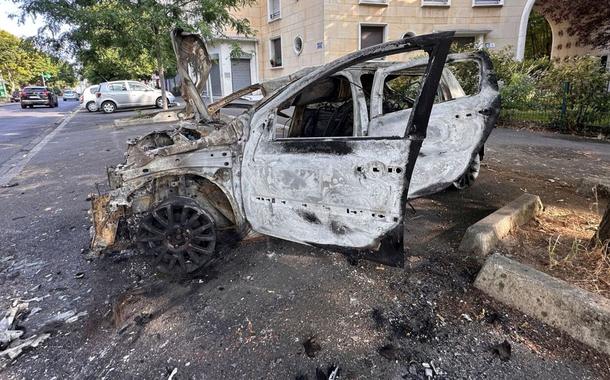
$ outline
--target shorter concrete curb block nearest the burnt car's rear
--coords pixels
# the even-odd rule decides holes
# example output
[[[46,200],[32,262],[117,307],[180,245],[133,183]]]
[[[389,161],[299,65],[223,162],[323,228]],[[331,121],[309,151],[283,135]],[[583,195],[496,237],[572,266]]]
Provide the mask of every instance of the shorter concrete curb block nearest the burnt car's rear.
[[[485,257],[492,248],[515,227],[543,210],[540,197],[523,194],[493,214],[468,227],[459,250]]]

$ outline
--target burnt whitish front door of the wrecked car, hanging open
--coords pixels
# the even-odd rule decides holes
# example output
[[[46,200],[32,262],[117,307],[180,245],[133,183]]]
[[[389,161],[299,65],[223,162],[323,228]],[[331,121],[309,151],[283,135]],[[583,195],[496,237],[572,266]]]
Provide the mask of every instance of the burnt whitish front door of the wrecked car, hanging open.
[[[385,49],[415,50],[419,46],[412,41],[378,45],[330,63],[259,108],[252,117],[241,173],[243,205],[252,228],[305,244],[402,252],[409,181],[450,35],[421,39],[441,49],[433,50],[421,101],[416,100],[415,116],[405,121],[409,128],[402,136],[350,135],[348,111],[355,95],[349,81],[332,76],[383,56]],[[291,119],[298,122],[289,122],[289,137],[276,138],[278,112],[289,107],[294,107]]]

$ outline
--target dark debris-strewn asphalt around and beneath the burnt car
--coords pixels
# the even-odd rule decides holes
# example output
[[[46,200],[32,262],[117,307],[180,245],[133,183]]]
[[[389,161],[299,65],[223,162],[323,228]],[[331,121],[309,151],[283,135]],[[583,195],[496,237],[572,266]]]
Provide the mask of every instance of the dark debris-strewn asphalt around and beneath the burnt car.
[[[223,252],[205,275],[175,281],[141,255],[81,254],[91,226],[87,195],[103,187],[106,166],[122,161],[127,138],[163,128],[112,126],[133,114],[78,112],[15,186],[0,189],[0,310],[29,299],[41,310],[20,321],[26,336],[51,333],[6,368],[0,361],[0,378],[176,371],[174,379],[312,379],[316,368],[339,365],[342,379],[420,379],[421,363],[431,360],[449,379],[610,376],[607,357],[473,289],[476,269],[455,254],[470,223],[526,184],[544,189],[546,178],[560,176],[572,187],[558,191],[573,192],[581,172],[572,168],[607,168],[609,145],[496,130],[472,188],[412,202],[405,268],[352,265],[334,252],[265,239]],[[70,310],[86,315],[45,323]],[[312,336],[319,349],[310,356],[304,342]],[[490,349],[505,339],[513,352],[506,362]]]

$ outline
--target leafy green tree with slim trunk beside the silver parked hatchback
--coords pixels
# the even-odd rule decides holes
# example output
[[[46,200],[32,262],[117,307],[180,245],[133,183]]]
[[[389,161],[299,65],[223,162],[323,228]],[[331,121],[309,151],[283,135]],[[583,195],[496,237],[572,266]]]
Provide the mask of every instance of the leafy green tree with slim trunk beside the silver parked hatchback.
[[[170,31],[179,27],[197,31],[206,39],[224,35],[227,29],[249,35],[249,21],[234,16],[233,11],[255,0],[16,1],[22,17],[41,16],[56,36],[53,40],[68,43],[72,52],[84,59],[88,75],[116,77],[108,70],[110,62],[116,63],[116,73],[132,75],[154,65],[160,77],[163,108],[167,109],[165,72],[175,65]],[[69,29],[62,31],[61,25],[69,25]],[[88,70],[87,66],[99,62],[93,57],[105,60]]]

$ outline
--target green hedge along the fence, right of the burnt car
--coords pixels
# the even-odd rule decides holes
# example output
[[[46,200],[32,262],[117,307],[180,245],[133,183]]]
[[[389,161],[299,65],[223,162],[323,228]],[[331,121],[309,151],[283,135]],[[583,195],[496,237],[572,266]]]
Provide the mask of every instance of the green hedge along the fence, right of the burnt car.
[[[571,131],[607,125],[610,73],[601,66],[600,58],[551,61],[542,57],[519,62],[509,50],[492,52],[491,57],[505,119],[545,122]]]

